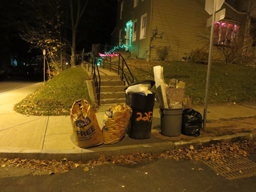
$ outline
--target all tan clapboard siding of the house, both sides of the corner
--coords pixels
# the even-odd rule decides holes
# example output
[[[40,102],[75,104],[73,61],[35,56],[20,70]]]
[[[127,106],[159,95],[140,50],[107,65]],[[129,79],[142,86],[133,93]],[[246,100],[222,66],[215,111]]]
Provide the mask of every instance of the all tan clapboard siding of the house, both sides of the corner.
[[[123,0],[123,2],[123,18],[120,19],[122,1],[118,1],[117,26],[112,34],[112,45],[118,45],[116,40],[119,38],[119,30],[122,28],[125,31],[126,23],[137,19],[137,40],[131,42],[131,57],[159,60],[157,51],[164,46],[170,48],[167,60],[183,60],[195,49],[208,51],[210,27],[207,28],[206,25],[210,15],[204,10],[205,0],[139,0],[137,7],[133,7],[133,0]],[[237,44],[241,52],[245,37],[246,14],[234,10],[227,3],[222,5],[221,9],[223,8],[226,9],[224,20],[236,22],[240,26]],[[139,39],[141,16],[144,14],[147,14],[146,37]],[[158,38],[151,41],[156,27]],[[224,55],[217,48],[220,47],[213,46],[213,60],[225,60]]]

